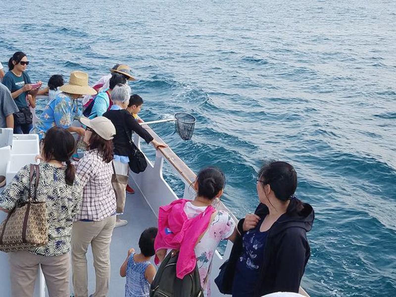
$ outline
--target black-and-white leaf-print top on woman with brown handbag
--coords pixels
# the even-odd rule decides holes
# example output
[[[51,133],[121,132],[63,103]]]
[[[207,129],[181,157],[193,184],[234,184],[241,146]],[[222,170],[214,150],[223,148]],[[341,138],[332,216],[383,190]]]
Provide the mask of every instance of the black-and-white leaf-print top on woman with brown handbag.
[[[58,256],[70,249],[73,219],[79,211],[82,188],[76,175],[72,186],[66,184],[66,168],[47,162],[40,163],[37,199],[46,201],[48,218],[48,244],[30,252],[42,256]],[[24,166],[0,194],[0,207],[11,210],[29,197],[30,164]],[[33,178],[33,183],[35,177]]]

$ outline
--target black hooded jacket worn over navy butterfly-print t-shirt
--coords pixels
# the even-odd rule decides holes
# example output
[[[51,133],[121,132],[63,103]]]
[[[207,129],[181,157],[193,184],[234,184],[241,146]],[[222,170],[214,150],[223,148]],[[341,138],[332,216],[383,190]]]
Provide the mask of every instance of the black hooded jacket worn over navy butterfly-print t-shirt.
[[[297,198],[290,202],[289,209],[296,207]],[[255,214],[260,218],[269,213],[267,206],[260,203]],[[315,217],[314,210],[308,203],[303,203],[301,211],[295,215],[282,215],[268,230],[267,242],[264,247],[264,262],[260,268],[259,281],[254,290],[254,297],[274,292],[298,293],[305,265],[310,256],[310,247],[306,232],[312,228]],[[238,231],[242,234],[234,243],[227,268],[224,272],[223,291],[232,294],[232,286],[236,263],[242,253],[242,229],[245,219],[238,223]]]

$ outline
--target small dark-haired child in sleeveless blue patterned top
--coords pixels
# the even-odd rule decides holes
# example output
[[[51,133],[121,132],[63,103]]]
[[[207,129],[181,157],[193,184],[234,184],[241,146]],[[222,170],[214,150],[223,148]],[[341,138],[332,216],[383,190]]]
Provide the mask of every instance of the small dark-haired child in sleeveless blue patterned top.
[[[139,239],[140,253],[136,253],[133,248],[128,250],[128,256],[120,268],[121,277],[126,276],[125,297],[149,296],[150,284],[156,272],[150,258],[155,254],[157,232],[155,227],[143,231]]]

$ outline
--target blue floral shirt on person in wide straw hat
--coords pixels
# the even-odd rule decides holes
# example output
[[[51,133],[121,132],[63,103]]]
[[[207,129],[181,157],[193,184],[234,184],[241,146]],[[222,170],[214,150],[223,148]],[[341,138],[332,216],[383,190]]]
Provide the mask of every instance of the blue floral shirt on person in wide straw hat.
[[[38,134],[39,138],[42,139],[52,127],[69,128],[76,115],[81,115],[77,100],[73,100],[69,94],[60,92],[48,102],[39,121],[30,133]]]

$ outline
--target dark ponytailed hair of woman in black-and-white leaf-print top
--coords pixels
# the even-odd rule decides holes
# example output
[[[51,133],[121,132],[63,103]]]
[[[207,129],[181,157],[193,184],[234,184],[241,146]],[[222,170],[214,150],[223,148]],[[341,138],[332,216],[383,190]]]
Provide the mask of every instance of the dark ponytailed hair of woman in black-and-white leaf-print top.
[[[70,162],[70,158],[74,153],[75,143],[73,135],[60,127],[49,129],[43,143],[42,154],[46,161],[55,159],[66,163],[65,180],[69,186],[73,185],[76,175],[76,169]]]

